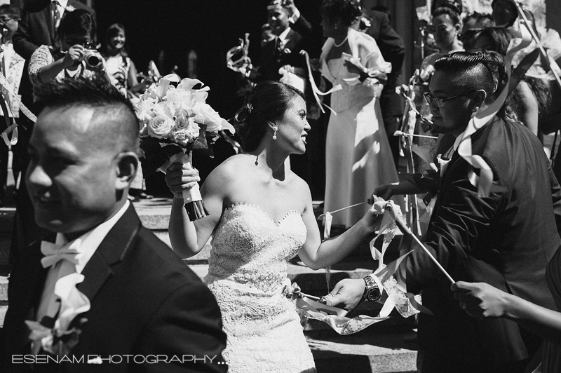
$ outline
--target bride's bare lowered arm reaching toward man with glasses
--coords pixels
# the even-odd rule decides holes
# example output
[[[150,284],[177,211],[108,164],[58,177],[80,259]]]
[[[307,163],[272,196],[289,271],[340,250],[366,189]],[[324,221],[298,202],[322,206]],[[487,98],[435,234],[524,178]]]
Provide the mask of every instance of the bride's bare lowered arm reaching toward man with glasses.
[[[309,194],[309,189],[308,189]],[[360,219],[358,223],[353,225],[340,236],[321,242],[320,232],[316,217],[313,215],[311,204],[311,196],[308,197],[306,210],[302,214],[302,219],[308,230],[306,243],[298,252],[302,262],[311,269],[320,269],[340,262],[344,257],[355,250],[360,243],[369,238],[374,233],[374,226],[377,222],[377,216],[372,212]]]

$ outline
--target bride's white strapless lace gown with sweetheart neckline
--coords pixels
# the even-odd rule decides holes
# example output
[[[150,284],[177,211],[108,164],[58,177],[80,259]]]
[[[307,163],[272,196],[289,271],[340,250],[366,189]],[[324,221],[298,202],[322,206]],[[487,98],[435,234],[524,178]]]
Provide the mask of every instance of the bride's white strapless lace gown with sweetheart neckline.
[[[301,215],[274,222],[255,205],[224,210],[205,283],[222,311],[229,372],[316,372],[295,304],[282,292],[288,260],[306,240]]]

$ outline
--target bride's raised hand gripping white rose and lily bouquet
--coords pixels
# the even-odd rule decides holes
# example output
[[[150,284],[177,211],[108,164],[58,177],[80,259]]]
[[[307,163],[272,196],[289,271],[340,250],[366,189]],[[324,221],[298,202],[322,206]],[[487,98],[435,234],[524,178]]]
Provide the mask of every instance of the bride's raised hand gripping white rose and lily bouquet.
[[[131,100],[142,128],[140,161],[144,177],[156,171],[173,172],[166,182],[175,196],[182,196],[191,221],[208,215],[198,190],[198,171],[192,167],[191,151],[212,156],[210,145],[219,137],[218,132],[235,132],[205,102],[209,88],[194,88],[199,85],[202,87],[203,82],[187,78],[179,81],[177,75],[171,74]],[[177,179],[180,170],[184,175]]]

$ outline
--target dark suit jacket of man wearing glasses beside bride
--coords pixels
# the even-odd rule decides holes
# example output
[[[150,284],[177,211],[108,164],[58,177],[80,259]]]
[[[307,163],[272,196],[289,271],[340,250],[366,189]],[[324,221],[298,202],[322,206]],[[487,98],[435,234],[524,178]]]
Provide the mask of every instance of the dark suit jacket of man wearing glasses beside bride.
[[[471,167],[456,152],[442,178],[426,247],[454,280],[489,283],[554,308],[544,274],[561,243],[552,200],[557,181],[543,147],[524,126],[500,119],[473,134],[472,142],[473,154],[485,159],[507,190],[478,197],[468,180]],[[440,360],[442,372],[452,371],[447,367],[482,372],[483,366],[532,358],[536,346],[529,346],[516,323],[478,320],[461,310],[450,281],[420,247],[406,269],[407,289],[423,290],[423,305],[434,313],[419,318],[420,347],[426,359]],[[437,371],[428,369],[423,372]]]

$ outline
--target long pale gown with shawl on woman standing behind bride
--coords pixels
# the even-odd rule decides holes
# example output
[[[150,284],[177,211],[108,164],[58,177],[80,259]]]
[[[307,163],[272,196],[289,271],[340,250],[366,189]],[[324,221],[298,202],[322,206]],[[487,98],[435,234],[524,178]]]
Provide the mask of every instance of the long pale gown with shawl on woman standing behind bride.
[[[349,29],[349,46],[353,57],[369,69],[386,71],[376,41]],[[381,116],[375,87],[358,83],[358,74],[344,66],[342,57],[327,59],[334,45],[327,39],[322,52],[322,74],[333,86],[342,89],[331,94],[331,114],[325,142],[324,212],[338,210],[370,198],[376,186],[398,182],[388,137]],[[396,197],[401,203],[401,198]],[[358,222],[369,206],[362,205],[333,215],[332,224],[347,228]]]

